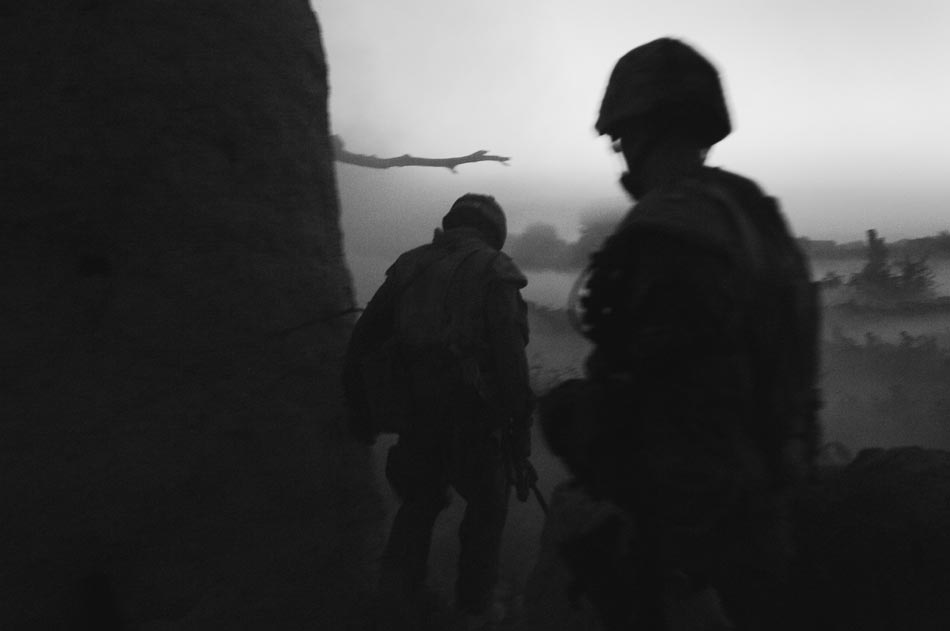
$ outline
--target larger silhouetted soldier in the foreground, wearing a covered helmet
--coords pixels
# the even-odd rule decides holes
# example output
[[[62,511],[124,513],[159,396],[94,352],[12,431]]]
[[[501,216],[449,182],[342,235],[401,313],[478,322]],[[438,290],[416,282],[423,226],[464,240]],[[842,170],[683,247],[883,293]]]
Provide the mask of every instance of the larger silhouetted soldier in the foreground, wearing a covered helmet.
[[[624,55],[596,127],[622,152],[637,204],[591,258],[589,379],[542,407],[553,449],[636,533],[632,591],[593,599],[613,628],[634,616],[684,628],[697,611],[708,615],[696,628],[785,628],[787,495],[818,438],[806,262],[773,198],[704,166],[731,127],[718,73],[686,44]],[[564,414],[572,405],[586,418]]]

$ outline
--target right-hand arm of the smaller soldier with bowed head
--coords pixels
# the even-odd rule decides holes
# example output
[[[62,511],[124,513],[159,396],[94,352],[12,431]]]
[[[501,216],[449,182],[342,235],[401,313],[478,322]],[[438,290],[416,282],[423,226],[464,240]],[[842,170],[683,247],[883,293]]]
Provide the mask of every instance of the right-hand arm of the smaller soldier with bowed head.
[[[500,254],[493,264],[486,296],[486,325],[494,361],[499,404],[515,422],[515,448],[527,457],[530,452],[529,427],[534,397],[528,377],[527,305],[521,288],[527,279],[515,264]]]

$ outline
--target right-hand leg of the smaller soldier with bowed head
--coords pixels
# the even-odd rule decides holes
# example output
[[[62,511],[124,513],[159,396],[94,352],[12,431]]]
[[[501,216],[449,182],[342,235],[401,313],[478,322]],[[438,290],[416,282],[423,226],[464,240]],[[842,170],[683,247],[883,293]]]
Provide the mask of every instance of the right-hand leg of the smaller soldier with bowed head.
[[[459,528],[455,592],[458,609],[478,614],[491,604],[492,591],[498,582],[511,485],[497,442],[488,440],[485,444],[476,444],[466,456],[455,481],[459,494],[467,502]]]

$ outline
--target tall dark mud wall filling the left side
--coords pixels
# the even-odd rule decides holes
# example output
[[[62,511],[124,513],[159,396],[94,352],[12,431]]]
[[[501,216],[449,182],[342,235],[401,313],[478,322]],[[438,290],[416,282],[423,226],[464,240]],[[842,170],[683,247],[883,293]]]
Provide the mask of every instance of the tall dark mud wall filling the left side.
[[[20,2],[0,38],[2,626],[335,628],[379,505],[309,5]]]

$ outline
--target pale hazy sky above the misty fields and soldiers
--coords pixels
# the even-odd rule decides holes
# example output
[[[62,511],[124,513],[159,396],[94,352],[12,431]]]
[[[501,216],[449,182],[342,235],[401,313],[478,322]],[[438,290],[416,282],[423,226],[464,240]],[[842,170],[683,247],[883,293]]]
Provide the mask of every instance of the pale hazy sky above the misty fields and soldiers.
[[[950,228],[947,0],[313,0],[331,126],[383,157],[477,149],[445,169],[339,165],[350,250],[427,240],[465,192],[494,194],[515,232],[629,206],[593,123],[613,64],[670,35],[719,68],[734,132],[709,163],[780,198],[798,234],[861,239]],[[375,229],[364,231],[365,226]],[[385,258],[385,256],[383,257]]]

